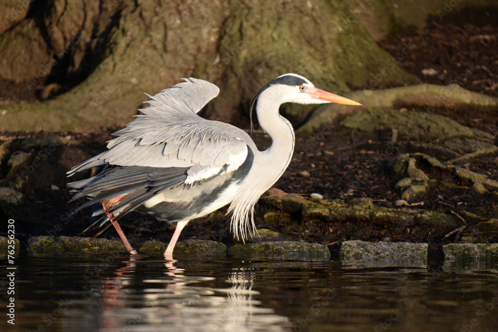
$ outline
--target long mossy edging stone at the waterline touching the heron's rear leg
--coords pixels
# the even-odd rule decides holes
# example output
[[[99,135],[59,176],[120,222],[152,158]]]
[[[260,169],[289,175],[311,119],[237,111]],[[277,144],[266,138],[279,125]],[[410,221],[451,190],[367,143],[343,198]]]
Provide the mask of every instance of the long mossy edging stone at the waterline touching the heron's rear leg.
[[[29,238],[28,251],[30,252],[126,252],[123,242],[107,239],[81,237],[49,237],[37,236]]]

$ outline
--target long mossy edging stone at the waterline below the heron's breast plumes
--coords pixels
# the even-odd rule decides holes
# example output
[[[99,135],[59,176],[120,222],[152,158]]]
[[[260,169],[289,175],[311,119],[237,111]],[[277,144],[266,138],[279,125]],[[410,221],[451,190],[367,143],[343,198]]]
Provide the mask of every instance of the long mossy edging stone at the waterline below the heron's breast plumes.
[[[236,257],[329,260],[330,251],[316,243],[295,241],[258,242],[235,245],[228,253]]]

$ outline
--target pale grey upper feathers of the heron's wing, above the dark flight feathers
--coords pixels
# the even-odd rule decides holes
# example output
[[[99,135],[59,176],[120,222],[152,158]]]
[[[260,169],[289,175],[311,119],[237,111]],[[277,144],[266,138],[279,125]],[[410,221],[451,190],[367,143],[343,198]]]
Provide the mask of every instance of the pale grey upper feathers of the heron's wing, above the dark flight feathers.
[[[241,166],[248,154],[245,141],[249,136],[232,125],[196,114],[218,94],[218,87],[203,80],[186,81],[150,97],[146,101],[150,105],[140,109],[142,114],[113,134],[118,137],[109,142],[108,151],[73,167],[68,175],[106,164],[196,166],[191,172],[208,175],[216,174],[224,165],[227,171]]]

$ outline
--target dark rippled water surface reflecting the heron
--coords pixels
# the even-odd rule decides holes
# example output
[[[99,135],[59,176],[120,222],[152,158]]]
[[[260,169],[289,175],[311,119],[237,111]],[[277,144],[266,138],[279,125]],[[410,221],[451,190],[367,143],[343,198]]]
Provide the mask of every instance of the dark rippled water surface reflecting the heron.
[[[498,331],[496,263],[427,268],[175,259],[21,255],[15,261],[15,326],[2,315],[0,330]]]

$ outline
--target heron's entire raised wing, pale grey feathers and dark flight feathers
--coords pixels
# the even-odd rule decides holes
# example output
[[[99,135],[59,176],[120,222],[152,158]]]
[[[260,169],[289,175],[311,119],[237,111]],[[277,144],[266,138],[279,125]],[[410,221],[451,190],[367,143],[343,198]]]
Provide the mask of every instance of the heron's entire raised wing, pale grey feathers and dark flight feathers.
[[[118,137],[109,142],[108,151],[68,171],[70,176],[95,166],[112,167],[94,178],[68,184],[76,192],[73,200],[91,198],[78,211],[127,194],[116,206],[124,207],[121,216],[164,190],[238,169],[248,156],[246,142],[253,146],[247,133],[196,114],[217,93],[216,85],[189,79],[150,97],[150,106],[114,134]]]

